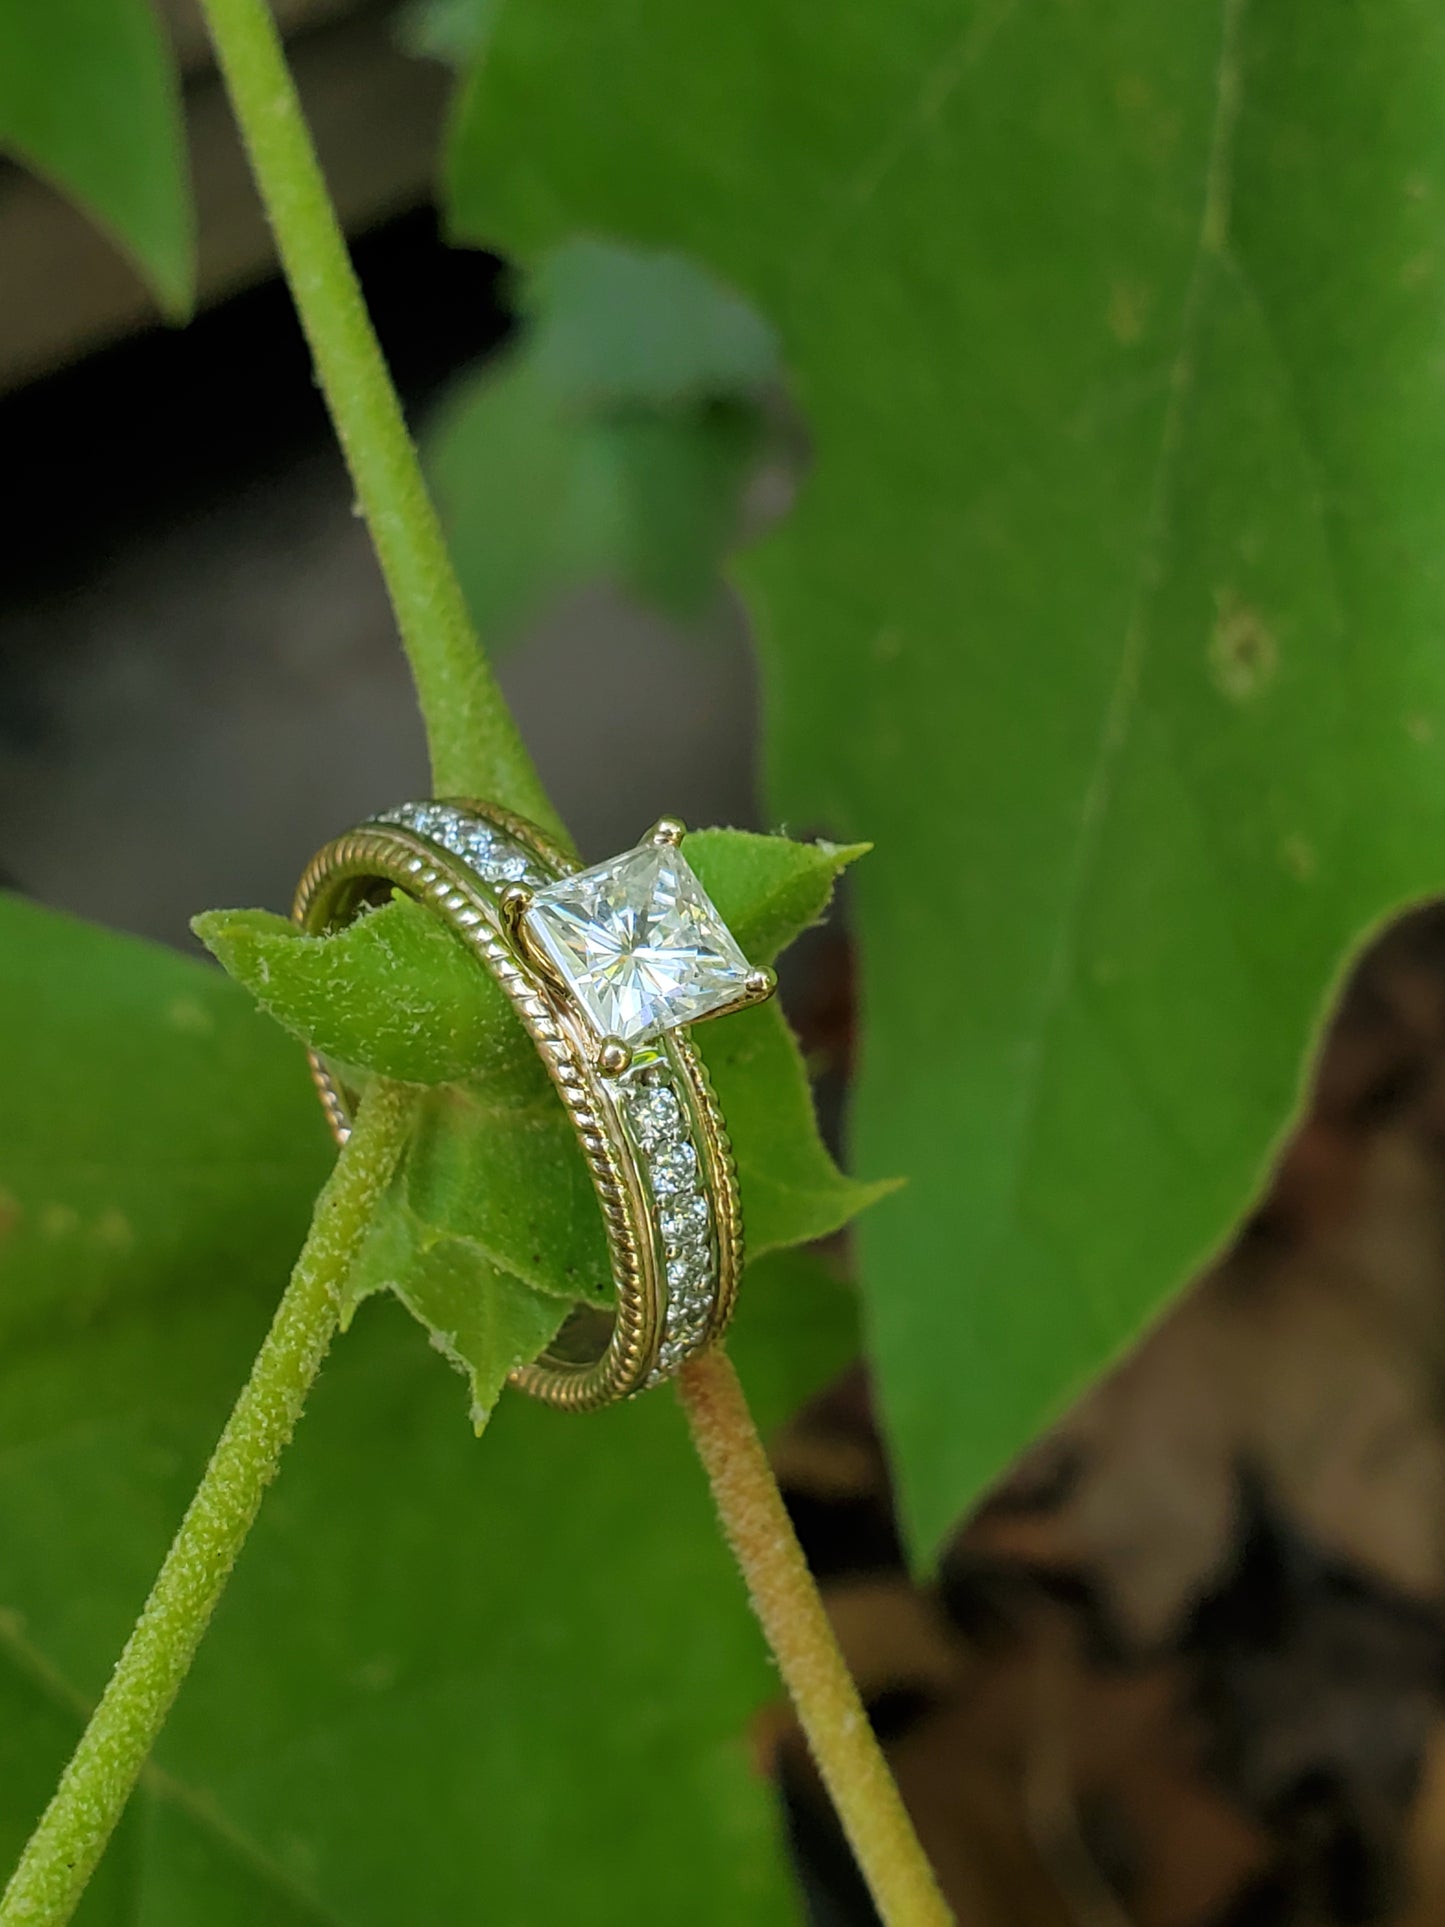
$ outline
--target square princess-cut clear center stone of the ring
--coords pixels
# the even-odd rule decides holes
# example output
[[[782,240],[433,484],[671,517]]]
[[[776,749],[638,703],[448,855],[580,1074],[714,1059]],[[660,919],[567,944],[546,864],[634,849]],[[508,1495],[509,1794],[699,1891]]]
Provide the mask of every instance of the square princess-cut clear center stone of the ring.
[[[674,844],[547,884],[522,921],[597,1037],[640,1044],[744,994],[748,958]]]

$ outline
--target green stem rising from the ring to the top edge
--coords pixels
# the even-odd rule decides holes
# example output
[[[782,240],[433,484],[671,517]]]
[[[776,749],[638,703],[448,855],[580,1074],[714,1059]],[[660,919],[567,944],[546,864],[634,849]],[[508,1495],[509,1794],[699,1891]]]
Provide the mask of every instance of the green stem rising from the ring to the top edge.
[[[202,13],[410,659],[437,796],[563,825],[478,646],[264,0]]]

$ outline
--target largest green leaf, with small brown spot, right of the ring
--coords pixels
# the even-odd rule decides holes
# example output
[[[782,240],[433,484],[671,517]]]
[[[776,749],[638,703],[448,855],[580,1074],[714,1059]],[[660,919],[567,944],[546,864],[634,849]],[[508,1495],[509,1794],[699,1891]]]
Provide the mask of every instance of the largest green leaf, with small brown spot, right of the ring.
[[[1441,98],[1422,0],[528,0],[462,98],[466,239],[688,251],[798,378],[746,582],[776,807],[879,844],[925,1540],[1227,1231],[1347,946],[1439,881]]]

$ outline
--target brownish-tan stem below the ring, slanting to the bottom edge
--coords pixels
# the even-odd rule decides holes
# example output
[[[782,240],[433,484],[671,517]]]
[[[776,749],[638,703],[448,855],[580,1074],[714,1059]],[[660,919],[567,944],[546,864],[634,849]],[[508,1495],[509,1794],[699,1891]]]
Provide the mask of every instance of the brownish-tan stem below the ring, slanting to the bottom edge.
[[[705,1353],[678,1374],[694,1445],[713,1486],[782,1684],[886,1927],[954,1919],[869,1725],[732,1360]]]

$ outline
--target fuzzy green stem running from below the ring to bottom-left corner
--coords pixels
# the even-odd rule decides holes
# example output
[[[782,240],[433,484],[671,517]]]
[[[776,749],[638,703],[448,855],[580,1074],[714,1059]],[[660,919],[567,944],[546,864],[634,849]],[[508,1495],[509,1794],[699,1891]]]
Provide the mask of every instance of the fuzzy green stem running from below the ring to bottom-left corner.
[[[360,1104],[250,1378],[110,1684],[0,1898],[0,1927],[62,1927],[75,1912],[322,1368],[341,1285],[397,1164],[410,1102],[405,1087],[376,1081]]]

